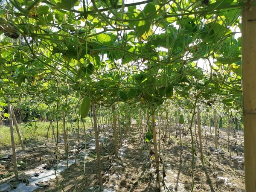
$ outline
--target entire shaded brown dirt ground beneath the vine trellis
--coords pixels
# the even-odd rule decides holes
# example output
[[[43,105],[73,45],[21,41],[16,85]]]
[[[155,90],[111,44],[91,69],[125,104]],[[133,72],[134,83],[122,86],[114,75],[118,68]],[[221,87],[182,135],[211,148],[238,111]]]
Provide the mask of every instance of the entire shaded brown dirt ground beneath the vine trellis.
[[[100,132],[101,166],[104,192],[154,192],[156,174],[154,152],[140,137],[139,128],[134,125],[119,145],[119,157],[114,158],[113,130]],[[160,131],[160,175],[161,191],[189,192],[192,185],[190,149],[191,138],[187,128],[182,131],[183,146],[178,142],[179,132],[171,128],[171,134]],[[200,160],[198,142],[195,139],[196,156],[194,163],[195,192],[244,192],[244,149],[243,132],[231,131],[230,146],[227,132],[219,130],[218,149],[215,148],[215,135],[210,136],[209,128],[202,128],[204,165]],[[84,137],[69,137],[69,159],[76,163],[61,172],[56,178],[37,183],[34,192],[96,192],[99,191],[98,169],[94,131],[87,130],[87,143]],[[198,139],[199,141],[199,139]],[[151,146],[153,148],[153,145]],[[164,148],[164,151],[163,151]],[[230,151],[229,151],[230,148]],[[65,161],[64,143],[58,143],[59,161]],[[149,151],[149,152],[148,152]],[[12,151],[0,151],[0,174],[4,181],[17,186],[29,185],[29,172],[40,175],[56,163],[56,148],[52,142],[43,142],[17,151],[20,181],[16,182],[13,173]],[[164,155],[163,155],[164,152]],[[152,156],[151,156],[152,155]],[[84,159],[85,157],[85,159]],[[85,162],[85,174],[83,174]],[[43,166],[42,166],[43,165]],[[38,169],[38,167],[42,169]],[[165,172],[163,172],[163,167]],[[35,175],[33,175],[35,176]],[[164,178],[163,178],[164,177]],[[0,181],[0,192],[2,181]],[[13,190],[8,190],[12,192]]]

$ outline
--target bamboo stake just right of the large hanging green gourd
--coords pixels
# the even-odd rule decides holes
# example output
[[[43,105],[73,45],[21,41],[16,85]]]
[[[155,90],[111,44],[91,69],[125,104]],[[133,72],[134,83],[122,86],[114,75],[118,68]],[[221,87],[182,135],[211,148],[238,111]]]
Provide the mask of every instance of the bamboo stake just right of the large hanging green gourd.
[[[95,134],[97,160],[98,160],[99,190],[103,191],[101,163],[100,163],[100,152],[99,152],[99,138],[98,138],[98,128],[97,128],[97,117],[96,117],[96,113],[95,113],[95,105],[94,105],[94,103],[92,103],[92,108],[93,108],[94,134]]]

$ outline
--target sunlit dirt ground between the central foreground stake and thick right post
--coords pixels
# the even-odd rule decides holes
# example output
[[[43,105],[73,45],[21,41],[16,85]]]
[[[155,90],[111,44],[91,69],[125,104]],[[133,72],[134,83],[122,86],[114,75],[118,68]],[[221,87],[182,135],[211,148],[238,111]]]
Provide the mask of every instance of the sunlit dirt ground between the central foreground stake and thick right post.
[[[227,149],[226,134],[225,131],[222,131],[222,136],[218,141],[218,150],[214,148],[215,140],[209,135],[203,134],[204,166],[201,163],[198,145],[196,146],[194,191],[244,192],[243,151],[240,154],[234,153],[235,148],[241,148],[241,146],[233,146],[231,144],[230,150],[232,151],[230,156]],[[230,139],[234,141],[236,138],[231,137]],[[183,140],[185,140],[184,136]],[[189,135],[186,136],[186,142],[191,143]],[[172,137],[168,145],[166,145],[164,155],[165,184],[170,191],[190,192],[192,183],[191,160],[191,149],[187,146],[178,145],[177,139]]]

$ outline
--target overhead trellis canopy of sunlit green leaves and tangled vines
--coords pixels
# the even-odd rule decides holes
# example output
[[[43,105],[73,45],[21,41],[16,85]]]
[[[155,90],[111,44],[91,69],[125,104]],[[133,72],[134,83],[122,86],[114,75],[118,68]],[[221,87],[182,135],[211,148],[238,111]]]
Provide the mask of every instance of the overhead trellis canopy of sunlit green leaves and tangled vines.
[[[238,0],[2,0],[0,94],[21,99],[61,83],[101,105],[199,96],[207,103],[218,96],[236,108],[244,6]]]

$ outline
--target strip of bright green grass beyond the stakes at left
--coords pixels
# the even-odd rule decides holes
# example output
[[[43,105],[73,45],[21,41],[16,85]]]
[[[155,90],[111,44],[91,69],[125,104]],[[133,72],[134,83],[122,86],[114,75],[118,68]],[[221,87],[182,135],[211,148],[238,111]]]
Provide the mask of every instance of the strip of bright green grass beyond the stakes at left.
[[[55,130],[55,135],[57,133],[57,123],[52,122]],[[41,142],[44,140],[47,140],[47,131],[49,128],[50,122],[27,122],[27,123],[20,123],[18,124],[20,134],[23,140],[23,144],[25,146],[32,145],[36,142]],[[77,122],[72,122],[72,125],[75,127],[75,131],[77,131]],[[66,128],[68,134],[72,135],[71,131],[71,125],[70,122],[66,122]],[[82,124],[80,122],[79,124],[80,130],[82,130]],[[90,117],[87,117],[85,119],[85,128],[90,129],[91,127],[91,121]],[[58,129],[59,129],[59,134],[62,134],[63,132],[63,126],[62,126],[62,120],[59,120],[58,122]],[[52,127],[50,126],[49,132],[48,132],[48,138],[52,139]],[[15,145],[16,148],[20,148],[20,142],[19,142],[19,137],[17,135],[16,128],[14,126],[14,140],[15,140]],[[9,126],[4,126],[0,125],[0,149],[10,149],[11,148],[11,134],[10,134],[10,127]]]

